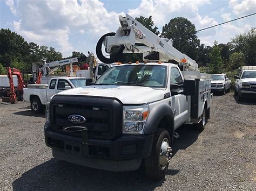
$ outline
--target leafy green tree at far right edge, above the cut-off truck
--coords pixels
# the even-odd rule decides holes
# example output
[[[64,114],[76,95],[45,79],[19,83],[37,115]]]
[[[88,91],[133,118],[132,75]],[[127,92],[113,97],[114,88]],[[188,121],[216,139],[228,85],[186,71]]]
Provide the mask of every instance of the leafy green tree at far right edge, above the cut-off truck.
[[[246,65],[256,63],[256,28],[252,28],[247,34],[239,34],[232,39],[233,51],[241,52],[245,56]]]

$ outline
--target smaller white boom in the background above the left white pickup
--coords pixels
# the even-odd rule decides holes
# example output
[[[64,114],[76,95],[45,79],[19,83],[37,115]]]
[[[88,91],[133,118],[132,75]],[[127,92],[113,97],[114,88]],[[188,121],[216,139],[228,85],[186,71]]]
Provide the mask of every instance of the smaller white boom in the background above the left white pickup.
[[[49,73],[54,72],[56,69],[58,69],[60,66],[64,66],[64,65],[68,65],[70,64],[70,75],[73,76],[73,67],[72,67],[72,63],[78,62],[77,57],[76,58],[71,58],[71,59],[65,59],[65,60],[58,60],[58,61],[54,61],[54,62],[49,62],[46,63],[44,61],[44,65],[42,66],[42,70],[43,70],[43,75],[47,75]],[[50,69],[50,67],[55,67],[53,69]]]

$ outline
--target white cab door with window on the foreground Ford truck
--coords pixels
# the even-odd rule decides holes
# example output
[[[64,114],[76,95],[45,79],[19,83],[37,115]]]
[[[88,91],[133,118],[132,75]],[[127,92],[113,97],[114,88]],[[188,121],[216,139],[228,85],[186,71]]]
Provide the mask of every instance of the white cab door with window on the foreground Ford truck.
[[[177,67],[171,67],[171,88],[173,87],[172,85],[178,85],[181,90],[183,89],[183,77]],[[182,94],[172,95],[172,110],[174,115],[174,129],[177,129],[188,117],[187,96]]]

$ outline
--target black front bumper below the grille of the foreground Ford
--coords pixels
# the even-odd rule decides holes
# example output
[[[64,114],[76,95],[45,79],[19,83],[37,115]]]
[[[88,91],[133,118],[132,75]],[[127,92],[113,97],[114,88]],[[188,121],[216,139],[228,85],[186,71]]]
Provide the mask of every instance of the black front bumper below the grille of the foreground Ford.
[[[44,126],[45,143],[53,157],[74,164],[109,171],[133,171],[142,159],[149,157],[153,135],[124,135],[114,140],[88,139],[57,133]]]

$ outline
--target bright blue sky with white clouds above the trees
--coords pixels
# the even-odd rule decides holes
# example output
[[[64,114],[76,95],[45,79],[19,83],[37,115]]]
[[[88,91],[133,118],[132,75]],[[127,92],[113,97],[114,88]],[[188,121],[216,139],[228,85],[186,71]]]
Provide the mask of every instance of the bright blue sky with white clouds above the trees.
[[[28,42],[72,51],[95,52],[103,34],[115,32],[118,16],[152,15],[159,30],[174,17],[188,18],[196,29],[256,12],[256,0],[0,0],[0,27],[21,34]],[[214,9],[214,10],[213,10]],[[227,43],[256,27],[256,16],[201,31],[201,43]]]

